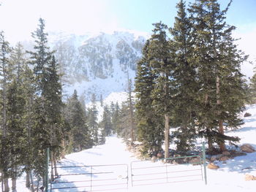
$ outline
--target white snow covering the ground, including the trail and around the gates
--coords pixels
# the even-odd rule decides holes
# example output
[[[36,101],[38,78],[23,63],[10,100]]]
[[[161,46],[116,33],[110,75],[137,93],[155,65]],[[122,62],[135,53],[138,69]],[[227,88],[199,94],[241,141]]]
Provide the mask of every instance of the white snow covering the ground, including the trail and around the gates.
[[[238,136],[241,142],[238,147],[248,143],[256,148],[256,104],[247,107],[246,112],[252,116],[244,118],[244,125],[236,131],[227,131],[226,134],[230,136]],[[226,143],[227,144],[227,143]],[[231,147],[228,144],[227,147]],[[238,150],[239,148],[237,148]],[[132,171],[131,171],[132,164]],[[59,168],[59,174],[62,176],[56,179],[57,184],[53,184],[55,188],[71,187],[69,189],[58,189],[53,192],[66,192],[66,191],[232,191],[232,192],[250,192],[256,191],[256,180],[245,181],[246,174],[256,176],[256,153],[246,153],[246,155],[238,156],[229,159],[225,162],[214,161],[214,164],[219,166],[219,169],[212,170],[206,169],[208,185],[205,185],[201,180],[202,172],[200,166],[192,165],[174,165],[165,166],[166,164],[158,161],[139,161],[135,155],[127,150],[126,145],[122,140],[116,136],[108,137],[105,145],[99,145],[89,150],[83,150],[78,153],[66,155],[65,159],[59,162],[58,166],[69,166]],[[105,166],[99,166],[105,165]],[[111,166],[110,166],[111,165]],[[71,167],[79,166],[79,167]],[[140,169],[138,169],[140,168]],[[142,168],[142,169],[141,169]],[[189,181],[182,183],[165,183],[158,175],[150,174],[154,172],[173,172],[172,176],[180,176],[182,170],[189,170],[187,175],[199,174],[198,181]],[[177,172],[179,171],[179,172]],[[90,174],[90,173],[94,174]],[[132,174],[131,174],[132,172]],[[68,175],[64,175],[68,174]],[[149,174],[149,175],[145,175]],[[133,176],[131,176],[133,175]],[[137,176],[137,177],[136,177]],[[157,179],[159,177],[159,180]],[[128,178],[128,179],[127,179]],[[146,184],[153,185],[140,185],[136,186],[133,180]],[[198,179],[198,178],[192,178]],[[170,178],[172,179],[172,178]],[[80,181],[67,183],[72,181]],[[173,180],[175,181],[175,180]],[[62,182],[62,183],[61,183]],[[66,182],[66,183],[65,183]],[[93,183],[90,188],[91,182]],[[111,185],[111,184],[115,185]],[[137,183],[137,184],[138,184]],[[154,185],[154,183],[162,183]],[[133,184],[133,186],[132,186]],[[18,181],[18,192],[28,191],[23,186],[24,177]],[[82,186],[82,188],[75,188]],[[117,189],[124,188],[124,189]],[[116,190],[114,190],[116,189]],[[49,190],[50,191],[50,190]]]

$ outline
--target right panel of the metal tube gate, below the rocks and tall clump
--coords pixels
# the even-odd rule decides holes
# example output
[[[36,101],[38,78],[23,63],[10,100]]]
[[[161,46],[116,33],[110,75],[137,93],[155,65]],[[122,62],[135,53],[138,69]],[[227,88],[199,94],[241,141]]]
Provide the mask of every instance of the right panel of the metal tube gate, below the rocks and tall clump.
[[[199,155],[132,161],[132,186],[203,180],[203,161]]]

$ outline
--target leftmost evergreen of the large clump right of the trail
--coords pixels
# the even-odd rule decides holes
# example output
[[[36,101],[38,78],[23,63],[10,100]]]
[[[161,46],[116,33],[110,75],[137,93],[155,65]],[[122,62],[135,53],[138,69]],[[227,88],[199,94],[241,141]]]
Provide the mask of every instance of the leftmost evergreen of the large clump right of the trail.
[[[138,120],[137,137],[143,143],[142,153],[158,153],[164,139],[164,125],[161,115],[154,111],[151,93],[154,90],[156,76],[152,72],[148,58],[148,44],[143,47],[143,58],[137,64],[135,80],[136,118]]]

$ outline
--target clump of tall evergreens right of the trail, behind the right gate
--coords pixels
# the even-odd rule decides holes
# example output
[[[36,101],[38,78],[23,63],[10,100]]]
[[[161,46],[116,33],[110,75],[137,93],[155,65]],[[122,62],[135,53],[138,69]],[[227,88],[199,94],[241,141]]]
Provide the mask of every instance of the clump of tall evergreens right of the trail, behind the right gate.
[[[181,0],[173,27],[154,24],[135,77],[136,132],[144,155],[164,144],[168,158],[170,142],[187,153],[198,137],[207,140],[209,153],[226,150],[225,141],[238,142],[224,134],[225,127],[243,123],[239,113],[249,93],[240,70],[247,55],[232,37],[236,27],[225,21],[231,2],[222,10],[217,0],[188,7]]]

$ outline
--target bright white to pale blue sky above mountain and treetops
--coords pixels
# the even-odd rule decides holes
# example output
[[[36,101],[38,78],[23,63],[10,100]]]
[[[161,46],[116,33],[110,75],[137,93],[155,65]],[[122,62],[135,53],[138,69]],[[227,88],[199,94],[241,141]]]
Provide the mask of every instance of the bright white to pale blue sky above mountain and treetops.
[[[47,31],[74,34],[132,30],[151,33],[152,23],[172,26],[179,0],[0,0],[0,30],[7,40],[31,38],[39,17]],[[224,9],[230,0],[219,0]],[[194,0],[187,0],[194,2]],[[236,26],[239,47],[256,61],[256,0],[233,0],[227,23]],[[252,75],[252,66],[246,68]]]

